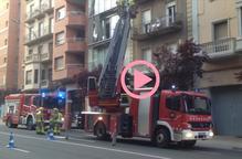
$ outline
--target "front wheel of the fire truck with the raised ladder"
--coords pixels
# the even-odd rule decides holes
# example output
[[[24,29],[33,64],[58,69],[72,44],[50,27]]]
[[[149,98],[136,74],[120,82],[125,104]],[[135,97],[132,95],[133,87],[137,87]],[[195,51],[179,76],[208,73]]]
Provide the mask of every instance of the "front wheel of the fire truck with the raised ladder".
[[[166,129],[159,129],[156,132],[156,146],[160,148],[168,147],[170,141],[169,131]]]

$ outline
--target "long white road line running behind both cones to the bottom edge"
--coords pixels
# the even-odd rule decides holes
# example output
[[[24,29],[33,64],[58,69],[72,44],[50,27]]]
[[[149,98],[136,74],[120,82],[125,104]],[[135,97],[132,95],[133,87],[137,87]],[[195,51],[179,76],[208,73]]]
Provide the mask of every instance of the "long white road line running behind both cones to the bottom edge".
[[[0,131],[0,134],[9,135],[7,132],[1,132],[1,131]],[[23,136],[23,135],[14,135],[14,136],[21,137],[21,138],[28,138],[28,139],[35,139],[35,140],[46,141],[46,139],[43,139],[43,138],[29,137],[29,136]],[[148,155],[148,153],[135,152],[135,151],[127,151],[127,150],[113,149],[113,148],[105,148],[105,147],[92,146],[92,145],[86,145],[86,144],[75,144],[75,142],[61,141],[61,140],[54,140],[53,142],[71,145],[71,146],[78,146],[78,147],[86,147],[86,148],[94,148],[94,149],[106,150],[106,151],[114,151],[114,152],[120,152],[120,153],[127,153],[127,155],[135,155],[135,156],[141,156],[141,157],[148,157],[148,158],[155,158],[155,159],[171,159],[171,158],[162,157],[162,156],[154,156],[154,155]]]

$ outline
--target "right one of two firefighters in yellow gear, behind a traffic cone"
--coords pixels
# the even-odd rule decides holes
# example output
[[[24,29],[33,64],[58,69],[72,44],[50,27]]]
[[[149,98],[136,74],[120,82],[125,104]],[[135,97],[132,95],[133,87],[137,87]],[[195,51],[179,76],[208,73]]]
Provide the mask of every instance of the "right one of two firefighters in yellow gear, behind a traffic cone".
[[[51,128],[54,131],[54,135],[61,134],[61,125],[62,125],[62,114],[59,112],[57,108],[53,108],[52,115],[51,115]]]

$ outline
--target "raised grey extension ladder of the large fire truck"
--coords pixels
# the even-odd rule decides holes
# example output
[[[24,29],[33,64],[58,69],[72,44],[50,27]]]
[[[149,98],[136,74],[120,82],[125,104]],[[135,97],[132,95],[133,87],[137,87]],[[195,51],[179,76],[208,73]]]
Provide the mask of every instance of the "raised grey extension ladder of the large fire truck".
[[[118,78],[124,64],[129,30],[130,14],[129,6],[126,2],[124,6],[122,6],[119,20],[115,26],[114,35],[108,47],[107,57],[99,76],[98,94],[101,98],[113,98],[116,95]]]

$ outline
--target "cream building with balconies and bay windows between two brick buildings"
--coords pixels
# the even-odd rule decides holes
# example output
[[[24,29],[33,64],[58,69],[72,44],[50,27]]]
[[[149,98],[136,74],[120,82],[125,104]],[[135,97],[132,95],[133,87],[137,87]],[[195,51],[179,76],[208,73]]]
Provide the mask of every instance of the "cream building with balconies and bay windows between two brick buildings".
[[[54,0],[25,1],[24,92],[50,88],[54,31]]]

